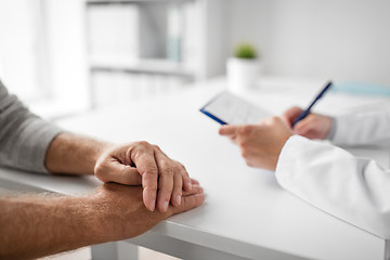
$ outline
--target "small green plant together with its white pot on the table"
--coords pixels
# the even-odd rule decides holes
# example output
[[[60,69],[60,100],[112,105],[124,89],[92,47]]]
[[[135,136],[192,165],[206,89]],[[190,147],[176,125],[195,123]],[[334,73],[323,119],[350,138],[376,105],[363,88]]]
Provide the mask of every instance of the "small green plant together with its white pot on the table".
[[[260,62],[256,48],[250,43],[239,43],[234,56],[227,60],[227,80],[232,92],[242,92],[256,87]]]

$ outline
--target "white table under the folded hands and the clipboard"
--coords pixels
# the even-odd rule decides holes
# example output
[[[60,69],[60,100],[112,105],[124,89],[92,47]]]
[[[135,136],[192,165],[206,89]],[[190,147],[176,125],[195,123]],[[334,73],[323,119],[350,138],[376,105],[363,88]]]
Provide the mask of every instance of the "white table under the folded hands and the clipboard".
[[[264,79],[259,90],[245,96],[278,114],[292,104],[306,106],[322,82]],[[94,247],[93,258],[117,253],[109,259],[125,259],[133,250],[131,244],[135,244],[184,259],[385,259],[384,239],[284,191],[273,172],[247,167],[239,150],[218,135],[218,123],[198,108],[224,86],[223,78],[217,79],[180,93],[58,122],[68,130],[113,142],[156,143],[183,162],[207,194],[199,208],[173,216],[144,235]],[[317,108],[330,114],[348,113],[360,109],[360,102],[373,108],[390,107],[386,99],[347,101],[329,94]],[[387,151],[353,153],[389,166]],[[0,169],[0,183],[8,188],[63,194],[89,192],[100,184],[93,177],[41,176],[10,169]]]

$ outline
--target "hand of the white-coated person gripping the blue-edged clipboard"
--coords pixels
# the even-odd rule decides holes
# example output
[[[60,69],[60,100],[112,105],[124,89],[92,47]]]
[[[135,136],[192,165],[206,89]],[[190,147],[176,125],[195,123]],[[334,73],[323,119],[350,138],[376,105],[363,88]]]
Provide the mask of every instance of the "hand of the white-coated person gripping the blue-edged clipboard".
[[[286,141],[294,134],[278,117],[268,118],[258,125],[226,125],[221,135],[235,142],[248,166],[274,171]]]

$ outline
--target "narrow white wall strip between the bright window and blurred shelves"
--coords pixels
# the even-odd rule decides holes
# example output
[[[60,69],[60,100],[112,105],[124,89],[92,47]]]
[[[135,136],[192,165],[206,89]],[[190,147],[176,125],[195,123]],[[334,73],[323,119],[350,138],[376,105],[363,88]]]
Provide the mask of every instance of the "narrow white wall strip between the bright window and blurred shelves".
[[[53,98],[74,109],[89,105],[84,1],[46,0]]]

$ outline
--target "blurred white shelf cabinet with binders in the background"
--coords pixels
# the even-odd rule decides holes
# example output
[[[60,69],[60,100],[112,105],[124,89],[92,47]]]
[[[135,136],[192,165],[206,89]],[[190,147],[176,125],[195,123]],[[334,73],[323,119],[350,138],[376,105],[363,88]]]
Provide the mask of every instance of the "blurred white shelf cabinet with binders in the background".
[[[210,76],[211,60],[224,47],[209,36],[223,29],[214,23],[226,24],[226,2],[87,0],[92,107],[174,91]]]

